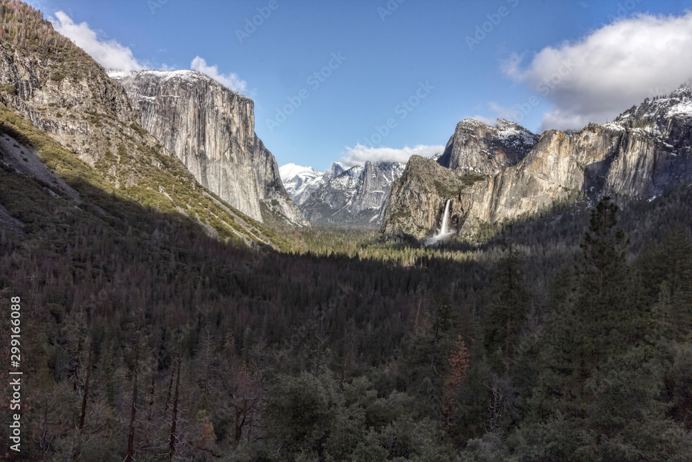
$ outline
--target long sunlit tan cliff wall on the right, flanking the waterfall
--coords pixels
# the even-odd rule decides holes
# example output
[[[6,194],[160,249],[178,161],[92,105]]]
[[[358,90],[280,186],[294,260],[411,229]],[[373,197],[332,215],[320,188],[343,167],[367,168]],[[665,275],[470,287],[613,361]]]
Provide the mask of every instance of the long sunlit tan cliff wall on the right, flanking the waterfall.
[[[471,125],[466,121],[462,124]],[[392,211],[385,217],[382,229],[385,235],[422,239],[434,234],[441,219],[440,204],[446,199],[453,199],[455,229],[471,236],[484,224],[536,213],[579,195],[592,201],[603,195],[619,201],[648,199],[664,193],[675,183],[692,180],[692,90],[688,87],[666,97],[646,100],[605,125],[590,124],[573,134],[545,132],[516,165],[505,163],[502,168],[501,163],[497,164],[500,172],[480,181],[466,181],[461,190],[437,188],[442,194],[430,194],[435,190],[431,185],[436,177],[453,173],[468,180],[473,179],[469,172],[482,172],[483,165],[485,172],[496,167],[483,163],[484,151],[494,142],[491,139],[488,143],[486,136],[474,138],[466,134],[466,157],[450,154],[458,150],[455,145],[459,145],[459,132],[466,133],[466,127],[459,130],[457,126],[457,133],[450,141],[452,148],[448,145],[445,154],[447,158],[443,156],[439,160],[453,170],[444,169],[444,172],[426,165],[428,175],[405,173],[401,184],[394,186],[390,199]],[[476,130],[476,133],[484,132],[488,130],[482,127]],[[420,163],[417,161],[418,170]]]

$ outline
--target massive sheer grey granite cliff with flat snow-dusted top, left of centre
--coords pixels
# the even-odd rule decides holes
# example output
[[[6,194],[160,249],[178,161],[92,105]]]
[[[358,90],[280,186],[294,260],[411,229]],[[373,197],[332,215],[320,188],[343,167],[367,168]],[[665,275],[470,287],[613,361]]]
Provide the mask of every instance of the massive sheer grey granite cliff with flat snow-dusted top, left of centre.
[[[253,100],[194,71],[111,73],[138,106],[142,126],[195,178],[249,217],[307,224],[277,163],[255,134]]]

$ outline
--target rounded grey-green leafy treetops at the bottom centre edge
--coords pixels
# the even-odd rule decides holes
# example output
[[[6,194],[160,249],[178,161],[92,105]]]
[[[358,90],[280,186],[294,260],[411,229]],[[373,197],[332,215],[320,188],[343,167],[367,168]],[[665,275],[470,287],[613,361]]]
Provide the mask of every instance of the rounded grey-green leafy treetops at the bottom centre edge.
[[[403,393],[378,398],[365,377],[338,393],[330,377],[302,373],[277,377],[264,416],[280,460],[454,460],[435,423],[412,418],[410,404]]]

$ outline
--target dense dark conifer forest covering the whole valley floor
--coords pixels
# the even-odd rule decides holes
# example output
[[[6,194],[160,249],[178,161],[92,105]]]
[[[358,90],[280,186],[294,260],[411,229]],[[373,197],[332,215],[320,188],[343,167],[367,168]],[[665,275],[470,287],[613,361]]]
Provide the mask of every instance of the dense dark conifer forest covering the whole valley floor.
[[[0,229],[12,460],[692,458],[688,188],[484,242],[293,229],[273,251],[71,186],[84,206],[0,171],[26,224]]]

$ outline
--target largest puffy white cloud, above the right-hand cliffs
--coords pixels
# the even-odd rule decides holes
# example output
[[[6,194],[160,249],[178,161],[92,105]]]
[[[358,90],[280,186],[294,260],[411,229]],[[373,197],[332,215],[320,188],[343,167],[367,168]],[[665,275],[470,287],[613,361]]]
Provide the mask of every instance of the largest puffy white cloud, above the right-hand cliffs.
[[[548,46],[527,66],[513,55],[506,75],[553,103],[543,130],[603,123],[644,98],[665,94],[692,77],[692,11],[639,15],[604,26],[579,42]]]

